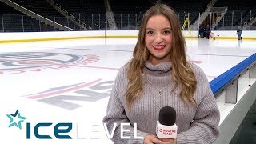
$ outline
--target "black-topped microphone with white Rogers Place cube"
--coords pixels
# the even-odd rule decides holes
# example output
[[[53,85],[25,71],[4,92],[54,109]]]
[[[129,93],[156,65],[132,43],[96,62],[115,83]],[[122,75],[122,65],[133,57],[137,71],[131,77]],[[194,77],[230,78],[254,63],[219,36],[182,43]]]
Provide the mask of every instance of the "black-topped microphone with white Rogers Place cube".
[[[158,138],[177,138],[176,110],[170,106],[160,109],[156,134]]]

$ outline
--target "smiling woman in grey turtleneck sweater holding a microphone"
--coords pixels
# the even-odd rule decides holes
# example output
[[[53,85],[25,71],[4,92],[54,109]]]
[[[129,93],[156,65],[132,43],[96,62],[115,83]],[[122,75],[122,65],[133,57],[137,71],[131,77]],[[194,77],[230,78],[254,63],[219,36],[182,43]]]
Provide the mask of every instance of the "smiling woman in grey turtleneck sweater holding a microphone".
[[[177,139],[156,137],[164,106],[176,110]],[[110,132],[116,124],[112,141],[120,144],[211,143],[218,137],[214,94],[203,71],[186,61],[185,39],[169,6],[157,4],[147,10],[133,58],[115,79],[103,122]],[[123,133],[130,138],[121,138],[121,123],[130,123],[124,127],[130,131]]]

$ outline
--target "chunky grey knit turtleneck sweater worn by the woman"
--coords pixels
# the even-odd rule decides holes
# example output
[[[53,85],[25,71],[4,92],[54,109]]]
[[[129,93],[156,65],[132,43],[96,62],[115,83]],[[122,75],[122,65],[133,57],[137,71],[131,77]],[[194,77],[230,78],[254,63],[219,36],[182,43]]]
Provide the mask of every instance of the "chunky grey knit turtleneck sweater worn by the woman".
[[[212,143],[218,137],[218,123],[220,119],[218,106],[214,94],[210,90],[209,82],[203,71],[196,65],[191,64],[198,81],[194,94],[197,106],[186,106],[179,97],[180,88],[171,93],[174,82],[170,78],[171,63],[164,62],[152,65],[146,62],[143,68],[142,78],[145,80],[144,94],[132,105],[132,110],[126,107],[126,88],[128,84],[126,65],[122,66],[115,79],[114,86],[107,106],[106,116],[103,122],[106,123],[111,132],[114,123],[118,126],[111,139],[115,144],[143,143],[147,134],[155,134],[156,122],[159,110],[163,106],[171,106],[176,110],[176,124],[178,126],[177,143]],[[146,74],[146,76],[145,76]],[[153,85],[152,85],[153,84]],[[162,90],[159,95],[158,90]],[[124,136],[130,139],[121,138],[120,123],[130,123],[124,126],[130,132],[124,132]],[[138,137],[134,138],[134,123],[137,123]]]

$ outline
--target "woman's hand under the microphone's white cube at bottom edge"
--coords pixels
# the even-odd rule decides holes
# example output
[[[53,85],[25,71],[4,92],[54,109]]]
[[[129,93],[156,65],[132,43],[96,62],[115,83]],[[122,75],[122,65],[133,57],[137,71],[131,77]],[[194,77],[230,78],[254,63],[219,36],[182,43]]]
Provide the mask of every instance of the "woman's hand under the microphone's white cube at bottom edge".
[[[148,134],[144,138],[144,144],[176,144],[176,139],[157,138],[156,135]]]

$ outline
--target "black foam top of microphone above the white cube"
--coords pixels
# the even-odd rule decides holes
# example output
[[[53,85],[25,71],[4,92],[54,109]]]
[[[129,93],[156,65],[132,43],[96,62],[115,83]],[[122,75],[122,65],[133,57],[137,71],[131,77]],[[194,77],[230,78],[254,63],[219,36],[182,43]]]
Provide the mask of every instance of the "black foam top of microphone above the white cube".
[[[165,106],[160,109],[159,122],[165,126],[172,126],[176,121],[176,110],[173,107]]]

